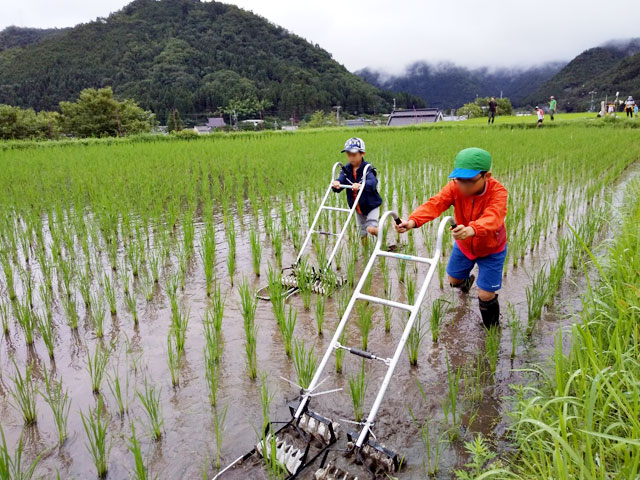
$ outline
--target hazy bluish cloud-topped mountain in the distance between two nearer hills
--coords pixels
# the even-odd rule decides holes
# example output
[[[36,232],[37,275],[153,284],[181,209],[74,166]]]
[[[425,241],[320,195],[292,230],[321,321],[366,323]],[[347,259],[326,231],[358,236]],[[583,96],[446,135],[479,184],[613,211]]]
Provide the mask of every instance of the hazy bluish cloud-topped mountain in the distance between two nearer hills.
[[[564,63],[548,63],[527,69],[469,69],[453,64],[416,62],[401,75],[364,69],[356,72],[380,88],[418,95],[429,106],[457,108],[476,97],[509,97],[518,105],[538,86],[557,73]]]

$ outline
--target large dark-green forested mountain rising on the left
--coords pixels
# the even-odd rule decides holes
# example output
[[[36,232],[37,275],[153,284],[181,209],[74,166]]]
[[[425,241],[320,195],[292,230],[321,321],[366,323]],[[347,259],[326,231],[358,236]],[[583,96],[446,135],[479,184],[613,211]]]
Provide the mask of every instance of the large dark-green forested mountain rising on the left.
[[[318,45],[233,5],[135,0],[107,18],[31,37],[0,36],[0,104],[53,110],[87,87],[111,86],[160,122],[234,102],[289,118],[341,105],[349,113],[423,105],[376,88]],[[33,33],[33,32],[32,32]],[[13,42],[13,43],[12,43]],[[23,45],[23,46],[12,46]]]

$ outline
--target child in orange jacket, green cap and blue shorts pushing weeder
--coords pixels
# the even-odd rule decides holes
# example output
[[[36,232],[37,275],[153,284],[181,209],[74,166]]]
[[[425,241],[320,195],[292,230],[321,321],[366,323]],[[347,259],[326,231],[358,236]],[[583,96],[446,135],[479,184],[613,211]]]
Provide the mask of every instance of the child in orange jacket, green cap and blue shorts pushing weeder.
[[[491,154],[481,148],[466,148],[456,156],[451,181],[419,206],[409,219],[396,225],[400,233],[437,218],[453,205],[458,226],[451,230],[455,244],[447,264],[449,282],[468,293],[478,264],[478,302],[488,328],[499,324],[500,304],[496,293],[502,287],[502,269],[507,256],[507,189],[492,177]]]

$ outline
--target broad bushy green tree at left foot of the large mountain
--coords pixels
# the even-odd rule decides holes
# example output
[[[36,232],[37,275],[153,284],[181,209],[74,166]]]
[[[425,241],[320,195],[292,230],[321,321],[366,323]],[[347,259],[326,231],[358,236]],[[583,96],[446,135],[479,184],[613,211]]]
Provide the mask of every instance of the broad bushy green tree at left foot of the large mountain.
[[[60,102],[62,128],[76,137],[115,137],[148,132],[151,112],[133,100],[118,101],[111,87],[87,88],[75,102]]]

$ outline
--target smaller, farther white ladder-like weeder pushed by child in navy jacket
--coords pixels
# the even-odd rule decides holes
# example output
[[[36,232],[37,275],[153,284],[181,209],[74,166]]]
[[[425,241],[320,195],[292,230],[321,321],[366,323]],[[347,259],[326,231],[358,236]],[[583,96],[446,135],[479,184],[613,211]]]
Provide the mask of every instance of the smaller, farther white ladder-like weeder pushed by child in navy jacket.
[[[282,284],[285,287],[288,287],[288,290],[285,292],[285,299],[289,298],[291,295],[293,295],[294,293],[296,293],[298,291],[298,279],[296,278],[295,268],[300,264],[300,260],[302,259],[303,255],[305,253],[305,250],[307,249],[307,247],[309,247],[309,245],[311,243],[312,235],[327,235],[327,236],[337,237],[336,243],[333,246],[333,249],[331,250],[331,253],[327,257],[326,263],[324,265],[318,265],[319,272],[317,272],[317,275],[314,275],[314,278],[312,279],[312,285],[311,285],[312,290],[315,293],[322,293],[322,294],[325,293],[325,291],[324,291],[325,287],[323,285],[322,274],[324,272],[326,272],[331,267],[331,264],[333,263],[333,259],[336,256],[336,253],[338,252],[338,248],[340,248],[340,243],[342,242],[342,239],[344,238],[344,234],[347,231],[347,227],[349,226],[349,224],[351,222],[351,219],[354,216],[356,208],[358,207],[358,203],[360,202],[360,197],[362,196],[362,192],[365,189],[366,182],[367,182],[367,174],[369,173],[369,168],[371,167],[371,165],[366,165],[364,167],[364,170],[362,172],[361,188],[360,188],[360,190],[358,190],[358,195],[356,196],[351,208],[331,207],[331,206],[327,205],[327,200],[329,199],[329,195],[331,194],[331,192],[333,190],[332,183],[336,179],[337,171],[342,167],[343,167],[343,165],[340,162],[336,162],[336,163],[333,164],[333,167],[331,169],[331,181],[329,182],[329,186],[327,187],[327,190],[324,193],[324,197],[322,197],[322,202],[320,203],[320,208],[318,208],[318,211],[316,212],[316,215],[313,218],[313,222],[311,222],[311,226],[309,227],[309,231],[307,232],[307,235],[306,235],[306,237],[304,239],[304,242],[302,243],[302,247],[300,248],[300,252],[298,253],[298,256],[296,257],[296,261],[294,262],[294,264],[291,267],[287,267],[287,268],[283,269],[283,272],[285,270],[291,270],[292,271],[292,273],[290,275],[283,275],[282,276]],[[340,188],[347,189],[347,190],[353,190],[353,185],[342,185],[341,184]],[[336,232],[324,232],[322,230],[316,230],[316,225],[318,224],[318,220],[320,219],[320,214],[323,211],[348,213],[347,219],[345,220],[344,224],[342,224],[342,228],[340,228],[340,232],[336,233]],[[338,282],[338,283],[339,283],[339,285],[342,285],[342,282]],[[261,287],[258,290],[258,298],[260,298],[261,300],[269,300],[268,296],[262,295],[260,293],[260,292],[266,290],[267,288],[268,288],[268,285],[265,285],[265,286]]]

